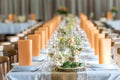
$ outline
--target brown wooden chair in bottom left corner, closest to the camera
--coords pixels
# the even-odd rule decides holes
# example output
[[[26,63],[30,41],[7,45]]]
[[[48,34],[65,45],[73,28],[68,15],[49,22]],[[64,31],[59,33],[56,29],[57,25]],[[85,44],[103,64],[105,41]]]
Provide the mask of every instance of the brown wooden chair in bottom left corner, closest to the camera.
[[[5,74],[9,71],[8,61],[7,56],[0,56],[0,80],[4,80]]]

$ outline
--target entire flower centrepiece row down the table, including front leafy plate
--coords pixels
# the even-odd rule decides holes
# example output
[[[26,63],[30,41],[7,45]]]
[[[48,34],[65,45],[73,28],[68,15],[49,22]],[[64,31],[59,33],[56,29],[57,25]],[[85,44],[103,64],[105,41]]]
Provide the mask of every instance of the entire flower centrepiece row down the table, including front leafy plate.
[[[57,30],[57,53],[54,61],[57,71],[78,71],[83,68],[79,54],[83,49],[83,37],[77,33],[75,19],[71,15],[65,18],[66,25]]]

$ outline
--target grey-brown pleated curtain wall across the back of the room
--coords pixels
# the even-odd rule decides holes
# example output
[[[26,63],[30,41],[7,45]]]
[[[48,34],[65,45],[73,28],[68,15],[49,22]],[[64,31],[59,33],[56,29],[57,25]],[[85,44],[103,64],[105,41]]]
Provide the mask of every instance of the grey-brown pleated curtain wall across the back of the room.
[[[120,10],[119,4],[120,0],[0,0],[0,13],[3,18],[9,13],[26,16],[35,13],[38,19],[49,20],[60,6],[66,6],[75,15],[84,12],[89,16],[93,12],[95,19],[99,19],[113,6]]]

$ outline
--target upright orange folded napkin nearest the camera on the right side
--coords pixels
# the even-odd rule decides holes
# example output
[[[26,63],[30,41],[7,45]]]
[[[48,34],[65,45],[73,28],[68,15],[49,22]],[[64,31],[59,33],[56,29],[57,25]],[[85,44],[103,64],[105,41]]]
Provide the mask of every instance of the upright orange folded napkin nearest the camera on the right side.
[[[99,64],[111,64],[111,39],[99,39]]]

